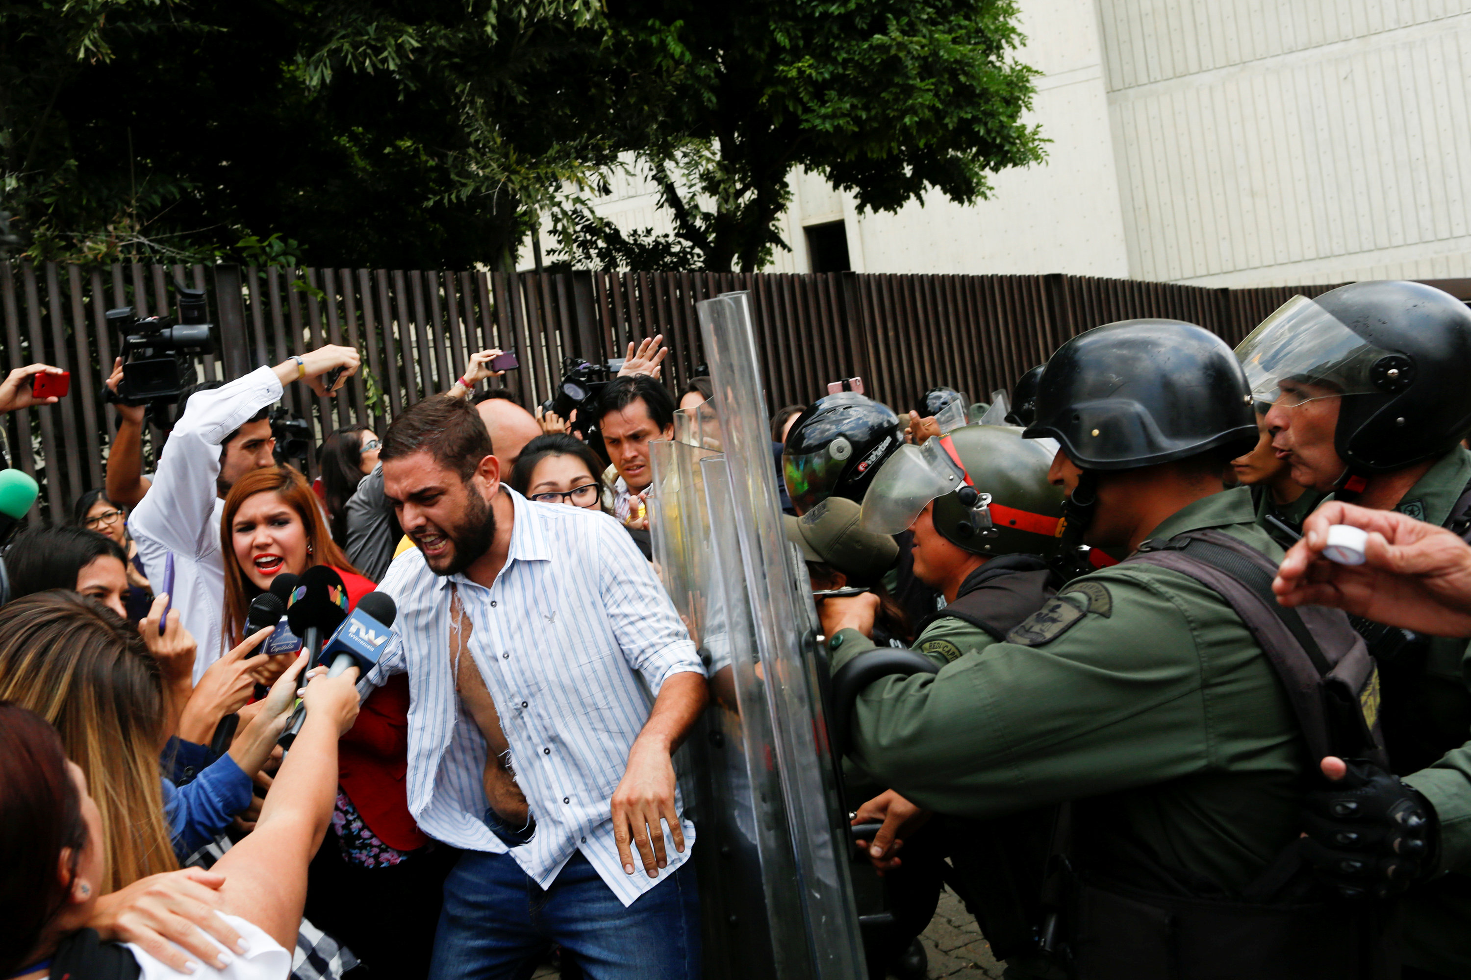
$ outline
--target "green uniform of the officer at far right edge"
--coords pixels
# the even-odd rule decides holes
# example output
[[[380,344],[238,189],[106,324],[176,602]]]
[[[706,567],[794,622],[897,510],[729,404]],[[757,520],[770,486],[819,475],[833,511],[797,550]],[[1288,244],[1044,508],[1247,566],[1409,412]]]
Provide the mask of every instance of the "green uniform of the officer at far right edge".
[[[1456,447],[1400,500],[1402,514],[1443,525],[1471,483],[1471,453]],[[1386,696],[1389,695],[1386,682]],[[1411,692],[1421,733],[1431,743],[1456,746],[1427,768],[1405,776],[1440,818],[1437,871],[1402,901],[1403,955],[1408,965],[1450,976],[1471,971],[1471,648],[1464,639],[1430,641],[1418,689]],[[1387,710],[1387,708],[1386,708]],[[1393,730],[1386,732],[1393,739]],[[1389,742],[1395,755],[1395,742]],[[1403,774],[1403,773],[1400,773]]]

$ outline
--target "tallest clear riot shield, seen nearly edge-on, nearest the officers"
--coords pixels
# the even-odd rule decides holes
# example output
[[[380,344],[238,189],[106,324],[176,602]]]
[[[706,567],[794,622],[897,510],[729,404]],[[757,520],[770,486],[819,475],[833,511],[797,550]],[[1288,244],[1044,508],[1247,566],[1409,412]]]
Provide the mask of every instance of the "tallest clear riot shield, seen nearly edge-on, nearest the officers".
[[[719,470],[725,480],[725,488],[715,489],[713,480],[706,488],[716,508],[712,526],[728,597],[734,696],[747,758],[774,773],[780,786],[778,795],[761,799],[758,824],[775,826],[780,814],[791,858],[784,879],[768,877],[763,868],[774,967],[746,976],[850,980],[863,976],[865,967],[849,880],[846,810],[821,707],[827,664],[815,644],[809,586],[802,582],[799,588],[800,566],[783,533],[747,297],[706,300],[699,316],[724,453],[702,466],[706,475]],[[747,639],[743,623],[750,626],[749,673],[740,651]]]

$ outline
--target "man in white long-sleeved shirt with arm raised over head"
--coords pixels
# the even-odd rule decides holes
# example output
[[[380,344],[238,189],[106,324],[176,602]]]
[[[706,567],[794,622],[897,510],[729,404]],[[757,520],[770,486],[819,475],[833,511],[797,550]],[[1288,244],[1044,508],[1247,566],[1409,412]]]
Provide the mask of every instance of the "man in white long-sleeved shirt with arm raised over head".
[[[153,485],[128,517],[128,530],[138,542],[154,588],[163,588],[165,558],[174,555],[174,605],[184,627],[200,641],[196,680],[224,646],[219,620],[225,597],[219,547],[222,498],[250,470],[275,466],[275,439],[266,410],[279,401],[288,382],[304,381],[318,395],[328,395],[322,376],[343,369],[335,391],[357,372],[357,364],[356,350],[330,344],[275,367],[256,369],[212,391],[196,391],[184,403]]]

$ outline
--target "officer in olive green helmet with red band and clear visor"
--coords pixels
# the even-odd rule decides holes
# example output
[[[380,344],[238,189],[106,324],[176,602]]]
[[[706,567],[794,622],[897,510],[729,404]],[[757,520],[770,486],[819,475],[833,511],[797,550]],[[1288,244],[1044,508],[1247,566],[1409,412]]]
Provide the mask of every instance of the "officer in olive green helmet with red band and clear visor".
[[[1047,561],[1058,548],[1062,491],[1047,480],[1050,464],[1047,448],[1022,439],[1021,429],[972,425],[905,447],[874,479],[863,498],[865,526],[886,533],[912,527],[915,574],[946,598],[915,641],[937,666],[1002,639],[1056,592],[1061,580]],[[894,790],[856,814],[856,823],[883,821],[863,842],[880,868],[902,862],[899,874],[916,865],[922,874],[933,855],[950,858],[955,871],[946,877],[997,956],[1027,951],[1040,899],[1030,884],[1043,877],[1055,818],[1050,808],[987,821],[931,818]],[[922,927],[933,901],[916,911]]]

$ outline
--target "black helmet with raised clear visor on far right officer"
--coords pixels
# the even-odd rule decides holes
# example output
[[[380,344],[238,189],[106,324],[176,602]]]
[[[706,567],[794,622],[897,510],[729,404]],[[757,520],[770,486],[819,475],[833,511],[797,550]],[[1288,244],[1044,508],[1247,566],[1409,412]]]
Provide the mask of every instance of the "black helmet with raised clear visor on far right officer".
[[[1261,401],[1342,398],[1333,445],[1350,472],[1442,455],[1471,428],[1471,310],[1422,282],[1293,297],[1236,353]]]

